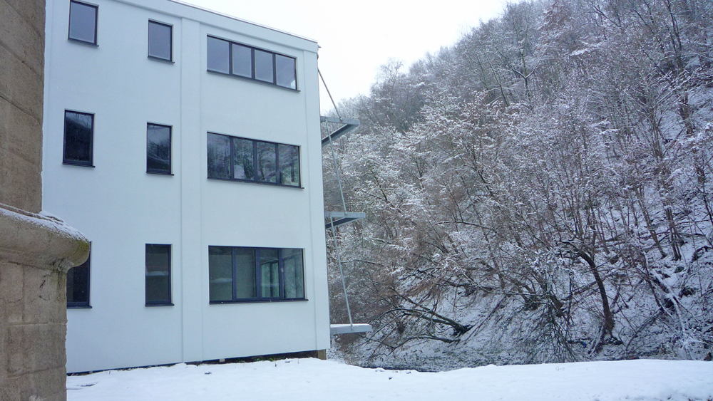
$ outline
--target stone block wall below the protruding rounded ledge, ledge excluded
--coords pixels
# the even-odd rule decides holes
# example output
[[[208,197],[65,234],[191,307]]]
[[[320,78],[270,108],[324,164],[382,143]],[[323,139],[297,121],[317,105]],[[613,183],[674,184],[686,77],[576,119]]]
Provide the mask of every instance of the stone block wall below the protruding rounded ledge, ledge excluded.
[[[0,261],[1,400],[66,400],[62,293],[66,274]]]

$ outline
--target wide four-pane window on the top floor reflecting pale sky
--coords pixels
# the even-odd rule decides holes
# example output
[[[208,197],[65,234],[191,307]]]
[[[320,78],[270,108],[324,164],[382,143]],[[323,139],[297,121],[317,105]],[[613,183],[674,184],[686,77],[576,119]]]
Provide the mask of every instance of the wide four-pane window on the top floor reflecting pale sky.
[[[208,71],[297,89],[295,58],[208,36]]]

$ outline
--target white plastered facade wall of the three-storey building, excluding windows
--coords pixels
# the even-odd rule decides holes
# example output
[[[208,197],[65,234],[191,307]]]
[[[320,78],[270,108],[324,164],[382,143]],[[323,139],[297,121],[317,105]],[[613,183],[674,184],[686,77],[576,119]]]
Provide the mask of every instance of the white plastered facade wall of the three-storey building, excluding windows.
[[[48,0],[43,209],[91,242],[91,308],[68,310],[81,372],[329,346],[317,43],[168,0],[92,0],[98,46]],[[173,25],[173,63],[148,21]],[[297,88],[207,72],[207,35],[297,58]],[[93,164],[62,164],[64,110],[93,113]],[[173,126],[173,175],[146,173],[146,124]],[[207,179],[207,132],[300,146],[303,188]],[[145,244],[172,244],[174,306],[145,306]],[[211,305],[208,246],[299,248],[307,301]]]

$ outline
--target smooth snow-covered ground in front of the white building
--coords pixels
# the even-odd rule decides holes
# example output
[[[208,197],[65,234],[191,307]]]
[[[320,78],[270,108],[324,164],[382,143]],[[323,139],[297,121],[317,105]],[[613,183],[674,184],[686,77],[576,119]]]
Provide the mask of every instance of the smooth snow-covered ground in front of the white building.
[[[109,370],[67,379],[68,401],[713,400],[713,362],[488,365],[441,373],[317,359]]]

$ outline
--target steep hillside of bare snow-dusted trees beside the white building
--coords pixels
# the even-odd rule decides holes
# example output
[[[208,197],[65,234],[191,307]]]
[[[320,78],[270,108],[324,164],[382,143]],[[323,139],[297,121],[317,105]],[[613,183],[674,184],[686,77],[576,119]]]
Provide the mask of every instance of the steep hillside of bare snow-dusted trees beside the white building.
[[[712,1],[510,4],[339,113],[347,360],[711,360]]]

